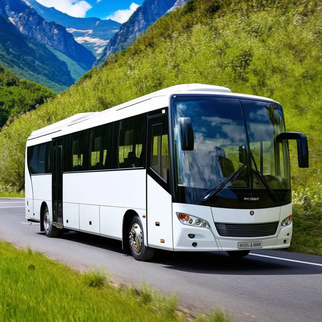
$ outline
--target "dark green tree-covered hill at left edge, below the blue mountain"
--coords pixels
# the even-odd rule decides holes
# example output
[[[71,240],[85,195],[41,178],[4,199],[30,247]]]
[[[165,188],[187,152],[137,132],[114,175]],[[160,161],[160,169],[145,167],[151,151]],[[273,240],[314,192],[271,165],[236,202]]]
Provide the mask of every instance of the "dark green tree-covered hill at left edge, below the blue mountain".
[[[15,114],[34,109],[56,94],[37,83],[19,79],[0,66],[0,128]]]

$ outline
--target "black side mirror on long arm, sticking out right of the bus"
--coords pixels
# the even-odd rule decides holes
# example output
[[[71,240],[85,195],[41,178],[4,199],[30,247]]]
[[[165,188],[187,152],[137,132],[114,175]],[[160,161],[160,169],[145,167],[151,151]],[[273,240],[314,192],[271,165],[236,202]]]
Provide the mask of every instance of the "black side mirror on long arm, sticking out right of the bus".
[[[308,168],[308,139],[306,135],[299,132],[282,132],[276,136],[276,141],[296,140],[298,147],[298,167]]]

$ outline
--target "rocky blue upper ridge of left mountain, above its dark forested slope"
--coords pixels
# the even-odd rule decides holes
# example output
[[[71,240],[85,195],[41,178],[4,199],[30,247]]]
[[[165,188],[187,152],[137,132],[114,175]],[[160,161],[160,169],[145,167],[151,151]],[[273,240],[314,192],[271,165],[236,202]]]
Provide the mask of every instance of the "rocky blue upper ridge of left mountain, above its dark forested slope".
[[[96,60],[88,49],[74,40],[64,26],[45,21],[21,0],[0,0],[0,14],[7,17],[21,33],[62,52],[87,70]]]

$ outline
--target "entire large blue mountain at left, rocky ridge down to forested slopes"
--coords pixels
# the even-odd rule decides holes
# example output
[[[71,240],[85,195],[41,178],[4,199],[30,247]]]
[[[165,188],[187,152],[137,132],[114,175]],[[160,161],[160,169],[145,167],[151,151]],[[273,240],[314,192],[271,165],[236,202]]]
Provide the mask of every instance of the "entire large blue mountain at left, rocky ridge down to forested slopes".
[[[59,92],[95,60],[61,24],[48,23],[21,0],[0,0],[0,63],[18,77]]]

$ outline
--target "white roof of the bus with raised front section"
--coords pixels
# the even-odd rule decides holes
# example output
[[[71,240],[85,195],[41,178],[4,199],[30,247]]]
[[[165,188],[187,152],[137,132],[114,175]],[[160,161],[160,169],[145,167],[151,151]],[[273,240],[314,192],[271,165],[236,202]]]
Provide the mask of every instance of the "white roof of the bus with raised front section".
[[[30,137],[28,140],[31,140],[33,138],[37,137],[42,137],[46,136],[49,134],[54,134],[57,133],[57,135],[54,135],[53,137],[59,137],[60,134],[58,132],[61,132],[64,128],[67,128],[73,124],[78,124],[80,122],[83,122],[85,120],[89,119],[99,119],[101,124],[102,123],[101,119],[105,119],[105,123],[109,122],[109,116],[114,112],[117,112],[119,110],[125,109],[127,107],[133,106],[135,104],[145,102],[150,99],[158,99],[158,102],[160,102],[160,106],[156,106],[156,104],[149,104],[148,110],[138,110],[134,114],[141,114],[144,112],[147,112],[149,110],[155,110],[158,108],[164,108],[168,105],[169,102],[169,97],[174,94],[221,94],[221,95],[229,95],[229,96],[239,96],[239,97],[245,97],[245,98],[255,98],[255,99],[265,99],[269,101],[273,101],[272,99],[266,98],[266,97],[261,97],[261,96],[255,96],[255,95],[248,95],[248,94],[238,94],[238,93],[232,93],[232,91],[227,88],[227,87],[222,87],[222,86],[215,86],[215,85],[206,85],[206,84],[181,84],[181,85],[175,85],[171,87],[167,87],[162,90],[155,91],[153,93],[141,96],[139,98],[130,100],[128,102],[122,103],[118,106],[103,110],[101,112],[89,112],[89,113],[79,113],[75,114],[69,118],[65,118],[59,122],[53,123],[49,126],[46,126],[44,128],[35,130],[31,133]],[[155,103],[155,102],[154,102]],[[134,112],[134,111],[133,111]],[[91,126],[93,122],[90,122]],[[101,125],[97,124],[97,125]],[[91,127],[89,126],[89,128]],[[85,127],[86,128],[86,127]],[[71,132],[78,131],[80,129],[74,129]],[[65,132],[65,131],[62,131]],[[65,134],[65,133],[62,133]]]

